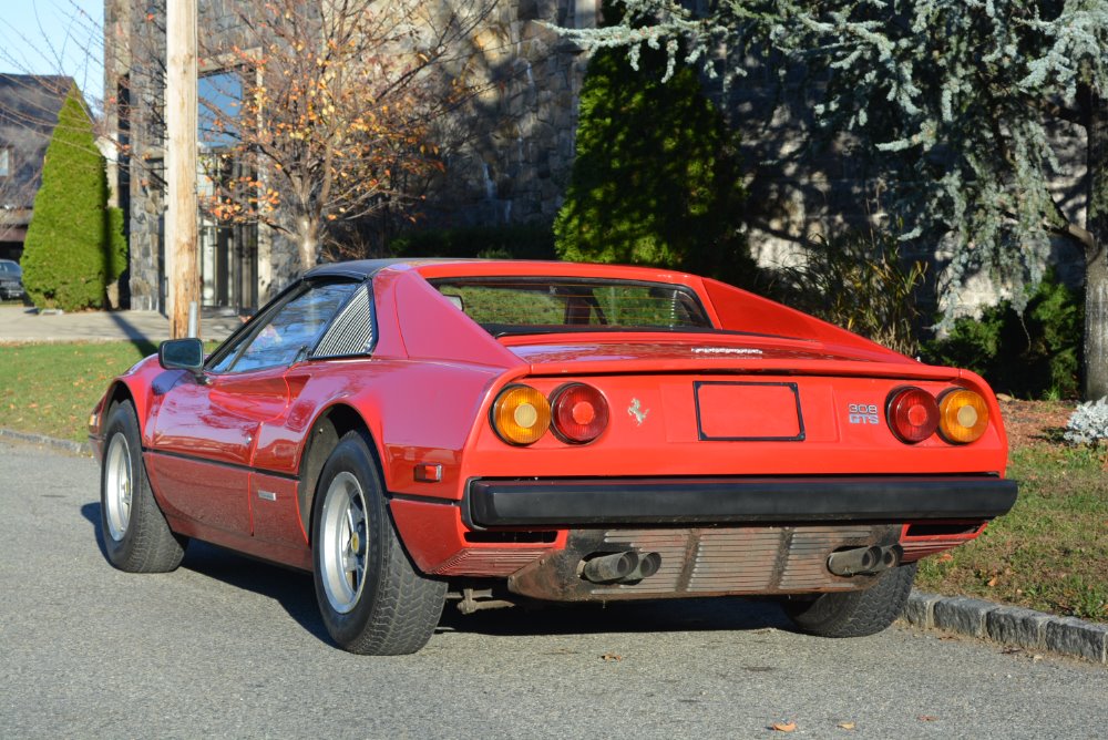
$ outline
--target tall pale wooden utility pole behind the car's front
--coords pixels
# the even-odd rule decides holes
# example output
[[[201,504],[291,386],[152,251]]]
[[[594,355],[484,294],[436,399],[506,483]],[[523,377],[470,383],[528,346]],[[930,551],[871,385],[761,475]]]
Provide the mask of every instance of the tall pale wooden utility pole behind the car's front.
[[[197,307],[199,336],[199,260],[196,203],[196,0],[167,0],[165,17],[165,167],[168,212],[165,216],[170,278],[170,336],[188,335],[188,307]]]

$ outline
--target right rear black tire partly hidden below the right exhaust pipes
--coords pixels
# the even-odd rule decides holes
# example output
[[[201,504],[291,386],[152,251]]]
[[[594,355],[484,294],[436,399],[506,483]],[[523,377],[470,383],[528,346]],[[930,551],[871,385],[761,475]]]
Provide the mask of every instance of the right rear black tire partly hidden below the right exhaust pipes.
[[[893,624],[907,604],[915,563],[885,571],[865,590],[822,594],[812,600],[784,602],[801,631],[820,637],[865,637]]]

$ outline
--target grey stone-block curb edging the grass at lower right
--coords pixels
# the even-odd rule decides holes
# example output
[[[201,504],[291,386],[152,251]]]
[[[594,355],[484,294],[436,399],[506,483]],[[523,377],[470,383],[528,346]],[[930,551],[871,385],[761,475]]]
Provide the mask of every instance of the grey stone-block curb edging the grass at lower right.
[[[1092,662],[1108,662],[1108,625],[1074,617],[1056,617],[979,598],[913,590],[903,618],[916,627],[945,629],[1027,650],[1049,650]]]

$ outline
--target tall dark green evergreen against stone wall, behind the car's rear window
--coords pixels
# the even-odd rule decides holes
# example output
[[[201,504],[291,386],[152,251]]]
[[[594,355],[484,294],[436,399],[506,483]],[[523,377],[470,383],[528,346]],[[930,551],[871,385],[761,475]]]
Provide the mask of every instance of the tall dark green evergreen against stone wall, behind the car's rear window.
[[[679,268],[749,285],[737,134],[678,65],[599,50],[581,92],[576,158],[554,220],[563,259]]]

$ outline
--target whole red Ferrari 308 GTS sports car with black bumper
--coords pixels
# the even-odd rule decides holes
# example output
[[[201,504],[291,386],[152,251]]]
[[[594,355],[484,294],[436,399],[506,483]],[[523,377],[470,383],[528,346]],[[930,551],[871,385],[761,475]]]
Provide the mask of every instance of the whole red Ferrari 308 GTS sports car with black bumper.
[[[318,267],[207,358],[163,343],[90,431],[114,566],[195,537],[310,571],[335,641],[375,655],[419,650],[448,598],[770,596],[868,635],[1016,497],[981,378],[630,267]]]

